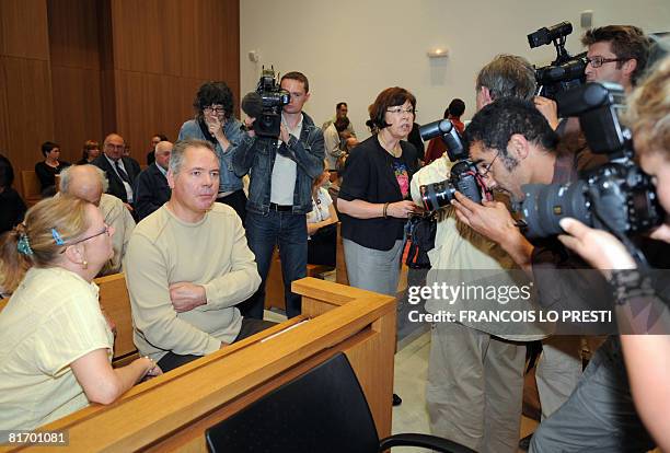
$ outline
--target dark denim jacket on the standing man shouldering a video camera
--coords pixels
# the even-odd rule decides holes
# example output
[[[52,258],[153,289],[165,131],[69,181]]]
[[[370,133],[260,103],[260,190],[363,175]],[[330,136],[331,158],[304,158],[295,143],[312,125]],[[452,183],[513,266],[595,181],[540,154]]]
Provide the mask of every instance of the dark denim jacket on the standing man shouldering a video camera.
[[[312,181],[323,172],[323,133],[314,121],[302,113],[300,139],[291,136],[281,143],[281,154],[297,164],[293,213],[305,214],[312,210]],[[240,177],[250,174],[246,209],[265,214],[269,211],[273,166],[277,156],[277,139],[245,136],[231,151],[233,169]]]

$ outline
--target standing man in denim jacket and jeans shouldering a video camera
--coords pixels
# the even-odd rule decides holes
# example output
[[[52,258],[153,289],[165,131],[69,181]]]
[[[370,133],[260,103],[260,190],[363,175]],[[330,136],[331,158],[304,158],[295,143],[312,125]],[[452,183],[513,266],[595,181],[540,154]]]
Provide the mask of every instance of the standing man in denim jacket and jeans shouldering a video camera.
[[[261,287],[241,310],[244,316],[257,320],[263,318],[265,282],[275,245],[279,246],[286,314],[300,314],[300,295],[290,289],[293,280],[307,276],[305,216],[312,210],[312,181],[323,173],[323,133],[302,112],[310,98],[309,81],[301,72],[288,72],[280,85],[290,94],[290,102],[280,111],[279,136],[261,136],[250,129],[232,151],[235,174],[251,176],[246,237],[262,278]],[[250,128],[262,119],[249,117],[244,123]]]

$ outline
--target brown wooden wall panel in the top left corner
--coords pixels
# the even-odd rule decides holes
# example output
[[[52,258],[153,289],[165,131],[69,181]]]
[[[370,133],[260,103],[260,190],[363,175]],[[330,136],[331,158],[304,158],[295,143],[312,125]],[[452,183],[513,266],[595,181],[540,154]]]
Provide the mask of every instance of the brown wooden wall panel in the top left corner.
[[[49,59],[46,0],[0,1],[0,55]]]

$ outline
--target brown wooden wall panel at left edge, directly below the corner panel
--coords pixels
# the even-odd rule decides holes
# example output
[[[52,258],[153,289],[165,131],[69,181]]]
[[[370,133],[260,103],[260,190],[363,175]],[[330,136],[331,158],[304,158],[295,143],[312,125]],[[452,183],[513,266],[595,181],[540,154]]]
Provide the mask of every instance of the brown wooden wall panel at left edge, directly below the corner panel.
[[[41,144],[54,140],[51,77],[47,61],[0,56],[0,62],[7,76],[10,113],[5,151],[18,175],[33,170],[44,159]]]

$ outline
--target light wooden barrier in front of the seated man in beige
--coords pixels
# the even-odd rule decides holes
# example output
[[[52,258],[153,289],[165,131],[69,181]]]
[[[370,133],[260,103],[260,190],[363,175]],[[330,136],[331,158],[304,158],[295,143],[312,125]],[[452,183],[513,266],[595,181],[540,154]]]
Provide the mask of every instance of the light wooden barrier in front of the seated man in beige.
[[[344,352],[380,437],[391,433],[395,303],[307,278],[294,281],[303,314],[45,426],[66,430],[68,451],[206,452],[204,431],[281,384]],[[305,322],[307,321],[307,322]],[[39,446],[0,448],[37,451]]]

